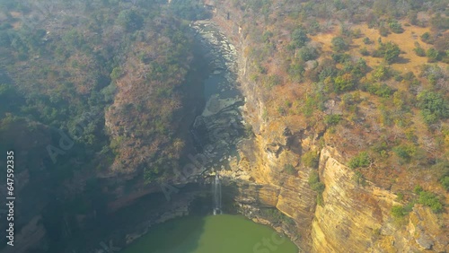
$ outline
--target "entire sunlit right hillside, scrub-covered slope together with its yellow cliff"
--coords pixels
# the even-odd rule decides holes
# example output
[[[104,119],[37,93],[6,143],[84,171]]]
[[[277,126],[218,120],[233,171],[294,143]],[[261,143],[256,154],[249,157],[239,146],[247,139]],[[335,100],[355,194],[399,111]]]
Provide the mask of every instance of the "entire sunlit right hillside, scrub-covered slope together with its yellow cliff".
[[[300,248],[447,250],[447,5],[207,4],[241,54],[241,170]]]

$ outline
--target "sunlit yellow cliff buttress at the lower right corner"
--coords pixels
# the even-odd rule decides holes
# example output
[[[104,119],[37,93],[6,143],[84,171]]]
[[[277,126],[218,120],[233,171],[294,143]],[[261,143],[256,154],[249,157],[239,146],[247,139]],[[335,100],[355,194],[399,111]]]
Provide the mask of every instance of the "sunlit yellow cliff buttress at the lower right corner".
[[[391,210],[400,205],[397,196],[371,182],[357,184],[355,173],[339,160],[336,150],[321,150],[320,175],[326,188],[324,205],[317,206],[312,223],[313,251],[446,252],[445,228],[428,207],[416,205],[408,220],[394,221]]]

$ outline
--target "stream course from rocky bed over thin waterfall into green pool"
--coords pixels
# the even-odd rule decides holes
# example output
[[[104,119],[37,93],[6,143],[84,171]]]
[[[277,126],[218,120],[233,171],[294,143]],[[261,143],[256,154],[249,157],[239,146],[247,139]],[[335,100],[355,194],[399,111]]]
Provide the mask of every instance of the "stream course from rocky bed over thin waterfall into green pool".
[[[192,177],[195,178],[192,184],[207,187],[201,188],[198,202],[192,203],[195,206],[191,206],[191,210],[198,210],[198,214],[189,211],[184,217],[154,223],[121,252],[271,252],[272,248],[262,242],[274,238],[282,242],[275,246],[277,252],[295,253],[295,244],[277,231],[232,214],[232,206],[228,203],[233,188],[228,185],[228,175],[240,160],[237,144],[246,134],[241,113],[244,98],[238,90],[240,84],[236,76],[236,50],[213,22],[192,22],[191,28],[196,34],[198,53],[207,64],[201,71],[208,72],[201,94],[205,100],[204,108],[201,106],[196,110],[198,115],[189,128],[198,153],[195,162],[202,165],[201,172]],[[187,188],[180,191],[178,199],[182,199],[183,194],[189,194]]]

